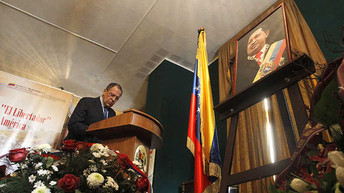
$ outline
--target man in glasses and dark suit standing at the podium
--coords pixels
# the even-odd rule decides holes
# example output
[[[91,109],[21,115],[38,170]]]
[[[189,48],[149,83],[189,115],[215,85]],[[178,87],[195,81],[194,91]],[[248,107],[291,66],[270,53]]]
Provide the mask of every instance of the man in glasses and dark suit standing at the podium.
[[[76,105],[68,122],[68,135],[64,140],[87,141],[100,143],[100,140],[86,132],[88,127],[95,122],[116,115],[111,108],[122,96],[122,87],[117,83],[109,84],[103,95],[96,98],[83,97]]]

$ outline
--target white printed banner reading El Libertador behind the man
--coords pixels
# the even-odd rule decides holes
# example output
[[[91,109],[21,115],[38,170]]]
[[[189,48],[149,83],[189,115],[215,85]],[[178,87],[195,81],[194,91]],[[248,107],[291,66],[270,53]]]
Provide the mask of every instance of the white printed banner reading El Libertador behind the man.
[[[0,71],[0,155],[44,143],[57,149],[72,97]]]

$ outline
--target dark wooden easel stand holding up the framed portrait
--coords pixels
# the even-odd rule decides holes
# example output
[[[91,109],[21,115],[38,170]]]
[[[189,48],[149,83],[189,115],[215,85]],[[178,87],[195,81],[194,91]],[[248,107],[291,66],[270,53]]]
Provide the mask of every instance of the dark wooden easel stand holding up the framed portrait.
[[[246,89],[232,97],[229,97],[214,107],[214,110],[220,113],[220,121],[231,118],[222,168],[220,193],[227,193],[228,187],[230,186],[278,175],[287,167],[290,158],[233,175],[230,174],[239,113],[264,100],[264,98],[276,94],[289,152],[292,155],[297,144],[297,137],[283,90],[288,88],[296,126],[299,134],[301,134],[308,122],[308,114],[304,107],[298,82],[313,73],[315,73],[313,60],[307,55],[301,54],[282,67],[266,75],[264,78],[253,83]]]

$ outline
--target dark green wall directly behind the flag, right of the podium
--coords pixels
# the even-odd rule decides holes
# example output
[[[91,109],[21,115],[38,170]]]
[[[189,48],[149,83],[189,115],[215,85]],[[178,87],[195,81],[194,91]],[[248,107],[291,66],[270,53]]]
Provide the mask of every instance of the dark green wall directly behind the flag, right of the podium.
[[[218,104],[218,63],[209,66],[214,105]],[[164,146],[156,151],[154,192],[180,192],[181,183],[193,179],[194,158],[186,148],[193,73],[164,61],[149,76],[145,112],[164,127]],[[218,113],[215,112],[218,120]],[[226,144],[226,123],[216,123],[221,161]]]

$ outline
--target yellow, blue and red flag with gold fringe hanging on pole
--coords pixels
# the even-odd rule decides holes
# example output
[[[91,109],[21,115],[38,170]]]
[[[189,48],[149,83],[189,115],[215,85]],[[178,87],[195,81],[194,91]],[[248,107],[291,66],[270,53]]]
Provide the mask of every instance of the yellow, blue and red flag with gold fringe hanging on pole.
[[[221,181],[221,160],[204,29],[199,30],[198,35],[186,146],[195,158],[194,193],[217,193]]]

